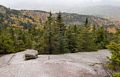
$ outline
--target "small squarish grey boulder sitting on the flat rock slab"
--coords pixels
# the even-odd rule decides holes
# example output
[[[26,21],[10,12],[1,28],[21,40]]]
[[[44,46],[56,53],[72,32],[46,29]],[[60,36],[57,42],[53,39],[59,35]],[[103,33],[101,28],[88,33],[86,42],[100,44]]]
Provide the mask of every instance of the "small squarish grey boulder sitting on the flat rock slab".
[[[38,51],[36,50],[25,51],[25,60],[36,59],[36,58],[38,58]]]

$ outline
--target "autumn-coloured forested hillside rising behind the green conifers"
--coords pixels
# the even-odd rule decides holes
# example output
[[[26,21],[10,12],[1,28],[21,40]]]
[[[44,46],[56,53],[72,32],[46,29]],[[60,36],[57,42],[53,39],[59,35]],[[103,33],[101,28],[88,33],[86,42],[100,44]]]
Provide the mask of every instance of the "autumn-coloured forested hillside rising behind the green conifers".
[[[3,9],[4,8],[4,9]],[[4,6],[0,6],[0,13],[6,14],[7,17],[5,19],[19,21],[19,22],[32,22],[42,23],[46,21],[47,16],[49,15],[48,12],[40,11],[40,10],[13,10],[5,8]],[[7,11],[7,12],[6,12]],[[53,17],[56,17],[57,13],[53,13]],[[4,16],[5,17],[5,16]],[[84,24],[86,18],[89,19],[90,24],[104,27],[114,26],[117,22],[113,22],[112,20],[96,17],[92,15],[80,15],[75,13],[62,13],[63,21],[65,24]],[[19,18],[19,19],[17,19]],[[9,21],[8,22],[11,22]],[[24,20],[24,21],[21,21]],[[37,21],[35,21],[37,20]],[[26,22],[25,22],[26,21]],[[13,23],[15,24],[15,22]],[[21,23],[17,23],[19,26]]]

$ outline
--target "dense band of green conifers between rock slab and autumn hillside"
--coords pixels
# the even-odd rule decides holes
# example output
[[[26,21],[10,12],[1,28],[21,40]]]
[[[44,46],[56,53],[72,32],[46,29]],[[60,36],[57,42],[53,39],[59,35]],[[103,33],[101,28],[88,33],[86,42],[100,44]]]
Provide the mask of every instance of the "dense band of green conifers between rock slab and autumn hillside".
[[[92,27],[88,18],[83,25],[65,25],[61,13],[54,18],[50,12],[44,23],[38,19],[24,19],[18,15],[11,15],[9,21],[2,19],[0,53],[20,52],[25,49],[38,50],[39,54],[75,53],[102,49],[108,44],[106,30],[103,27]]]

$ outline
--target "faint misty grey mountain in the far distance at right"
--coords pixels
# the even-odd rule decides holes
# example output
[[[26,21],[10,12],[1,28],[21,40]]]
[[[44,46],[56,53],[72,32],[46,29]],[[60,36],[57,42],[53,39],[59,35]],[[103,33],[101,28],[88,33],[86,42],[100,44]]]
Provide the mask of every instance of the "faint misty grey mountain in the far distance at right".
[[[85,7],[79,11],[80,14],[95,15],[100,17],[111,17],[120,19],[120,7],[110,5],[99,5]]]

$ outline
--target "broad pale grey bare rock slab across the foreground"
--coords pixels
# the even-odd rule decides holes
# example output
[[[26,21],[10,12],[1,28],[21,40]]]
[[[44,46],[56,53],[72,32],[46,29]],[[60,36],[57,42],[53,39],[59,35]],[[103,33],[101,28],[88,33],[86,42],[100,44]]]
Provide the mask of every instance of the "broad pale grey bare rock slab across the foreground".
[[[33,51],[14,54],[9,65],[0,66],[0,77],[110,77],[103,66],[106,57],[111,56],[108,50],[38,55],[37,59],[25,61],[25,54]],[[8,56],[2,56],[0,63],[6,63],[3,59]]]

